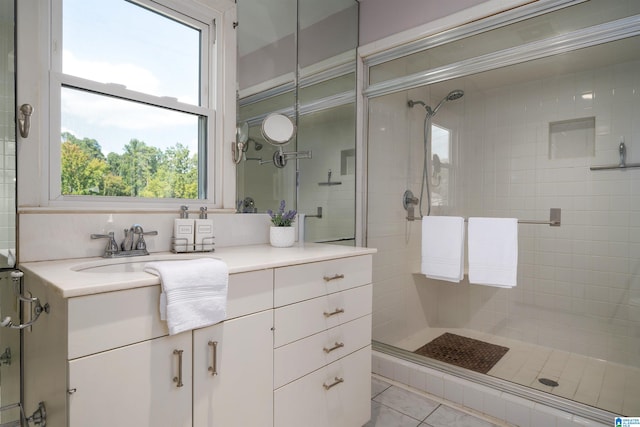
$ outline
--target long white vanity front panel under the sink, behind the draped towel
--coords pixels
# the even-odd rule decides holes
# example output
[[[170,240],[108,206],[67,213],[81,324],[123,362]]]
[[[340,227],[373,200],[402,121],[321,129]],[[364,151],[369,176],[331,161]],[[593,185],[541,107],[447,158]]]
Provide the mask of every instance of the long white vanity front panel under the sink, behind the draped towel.
[[[160,320],[160,286],[70,298],[68,358],[168,334]],[[273,270],[229,276],[227,319],[270,309]]]

